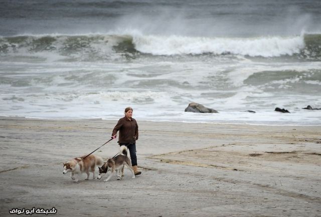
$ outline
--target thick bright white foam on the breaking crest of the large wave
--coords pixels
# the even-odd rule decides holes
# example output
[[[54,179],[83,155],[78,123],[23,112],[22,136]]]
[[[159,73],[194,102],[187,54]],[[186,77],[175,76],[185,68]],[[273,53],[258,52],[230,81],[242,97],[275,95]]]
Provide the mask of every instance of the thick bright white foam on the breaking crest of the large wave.
[[[303,36],[260,38],[199,38],[184,36],[133,36],[136,50],[152,55],[235,54],[262,57],[293,55],[304,48]]]

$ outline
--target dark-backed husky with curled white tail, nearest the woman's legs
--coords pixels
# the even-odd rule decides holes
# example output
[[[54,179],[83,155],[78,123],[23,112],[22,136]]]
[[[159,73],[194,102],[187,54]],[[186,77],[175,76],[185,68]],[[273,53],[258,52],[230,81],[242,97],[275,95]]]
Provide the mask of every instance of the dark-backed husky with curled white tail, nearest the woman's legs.
[[[123,172],[123,168],[125,165],[131,171],[132,178],[135,178],[130,159],[127,157],[127,147],[125,145],[122,145],[119,148],[119,155],[108,159],[107,162],[105,162],[101,167],[98,167],[99,175],[97,178],[101,179],[102,173],[111,171],[110,175],[104,181],[108,181],[114,174],[118,177],[117,179],[121,179],[122,177],[120,176],[120,169]]]

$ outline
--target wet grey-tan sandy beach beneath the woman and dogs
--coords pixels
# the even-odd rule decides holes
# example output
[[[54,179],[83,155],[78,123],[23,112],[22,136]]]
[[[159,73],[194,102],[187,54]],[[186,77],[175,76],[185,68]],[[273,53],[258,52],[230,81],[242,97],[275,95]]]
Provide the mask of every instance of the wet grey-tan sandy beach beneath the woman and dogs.
[[[142,174],[75,183],[63,162],[109,140],[116,120],[1,117],[0,215],[321,216],[321,126],[137,121]]]

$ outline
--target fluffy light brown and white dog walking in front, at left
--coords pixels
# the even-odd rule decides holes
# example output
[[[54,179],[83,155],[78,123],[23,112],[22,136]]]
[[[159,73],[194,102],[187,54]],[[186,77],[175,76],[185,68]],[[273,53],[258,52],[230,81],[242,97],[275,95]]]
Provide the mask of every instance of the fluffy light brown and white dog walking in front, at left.
[[[96,166],[101,166],[104,163],[104,160],[101,157],[95,156],[93,154],[85,157],[76,157],[68,162],[64,163],[64,171],[63,174],[71,172],[71,179],[75,182],[79,179],[79,174],[86,173],[87,179],[89,179],[89,172],[93,173],[93,179],[95,178],[95,169]],[[85,157],[85,158],[84,158]],[[83,159],[84,158],[84,159]],[[74,175],[77,174],[77,177]]]

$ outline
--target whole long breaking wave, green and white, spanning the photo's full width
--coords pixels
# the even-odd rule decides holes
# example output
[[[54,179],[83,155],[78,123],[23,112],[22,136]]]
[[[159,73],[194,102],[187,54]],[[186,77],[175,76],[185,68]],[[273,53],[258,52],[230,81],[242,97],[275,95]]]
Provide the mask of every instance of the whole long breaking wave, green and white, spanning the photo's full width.
[[[0,55],[41,56],[54,53],[80,61],[106,60],[135,55],[242,55],[248,57],[294,56],[321,59],[321,34],[293,37],[204,38],[185,36],[43,35],[0,37]]]

